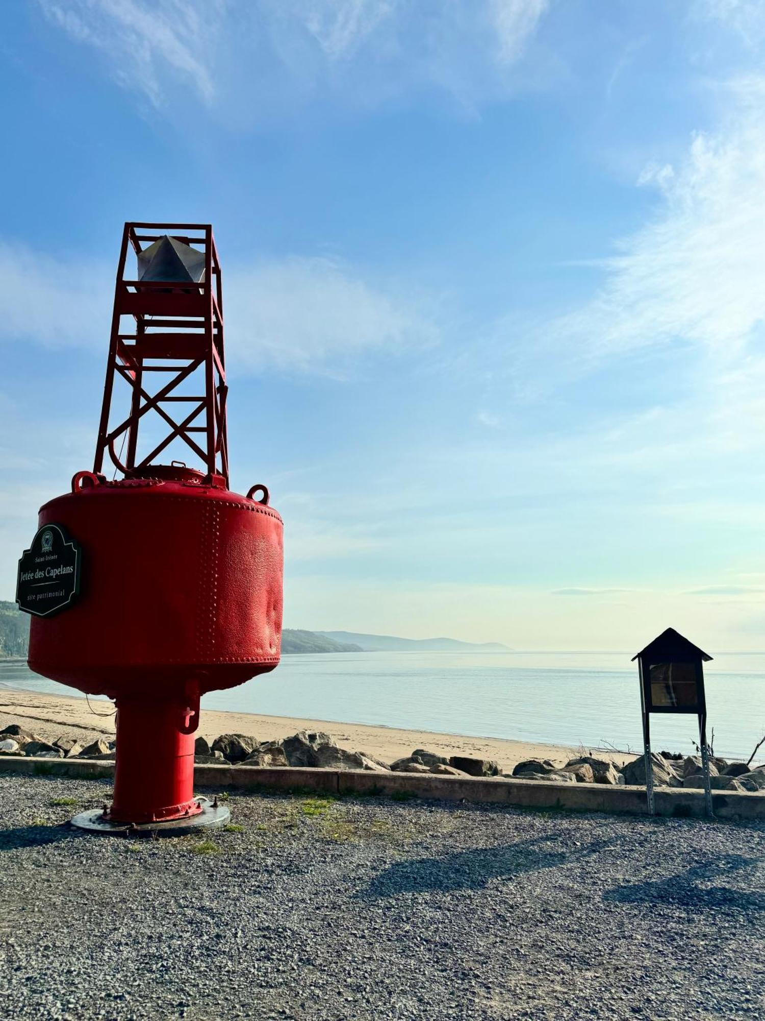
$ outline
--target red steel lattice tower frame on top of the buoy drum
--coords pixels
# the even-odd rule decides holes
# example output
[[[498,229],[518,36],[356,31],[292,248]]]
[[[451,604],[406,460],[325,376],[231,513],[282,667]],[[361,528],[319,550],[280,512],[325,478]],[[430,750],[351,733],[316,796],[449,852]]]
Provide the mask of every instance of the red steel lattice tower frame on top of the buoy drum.
[[[202,283],[144,283],[124,279],[128,246],[131,245],[138,254],[143,251],[143,244],[152,244],[165,234],[204,251],[205,275]],[[220,263],[209,224],[124,225],[114,288],[104,401],[93,466],[97,475],[102,472],[107,451],[114,466],[125,477],[149,474],[154,457],[174,439],[181,439],[200,458],[209,482],[228,488],[222,307]],[[121,332],[123,317],[135,321],[134,333]],[[173,393],[200,367],[204,367],[204,395]],[[172,375],[167,383],[157,388],[148,382],[155,373]],[[115,374],[131,385],[132,396],[128,418],[109,429]],[[165,403],[190,404],[191,410],[188,415],[176,416],[181,418],[176,422],[163,406]],[[137,463],[141,419],[151,410],[164,420],[168,432],[149,454]],[[203,412],[205,425],[195,425]],[[203,433],[204,446],[201,446],[193,434]],[[123,461],[114,448],[120,437],[122,445],[126,440]]]

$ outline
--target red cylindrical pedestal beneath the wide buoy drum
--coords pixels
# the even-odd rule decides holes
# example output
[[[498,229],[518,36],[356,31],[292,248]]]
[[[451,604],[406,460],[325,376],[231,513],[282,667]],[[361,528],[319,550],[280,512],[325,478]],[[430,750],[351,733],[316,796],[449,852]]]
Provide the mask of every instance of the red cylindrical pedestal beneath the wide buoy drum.
[[[161,701],[117,699],[112,821],[163,822],[202,811],[193,796],[194,731],[198,723],[198,696]]]

